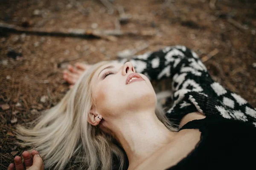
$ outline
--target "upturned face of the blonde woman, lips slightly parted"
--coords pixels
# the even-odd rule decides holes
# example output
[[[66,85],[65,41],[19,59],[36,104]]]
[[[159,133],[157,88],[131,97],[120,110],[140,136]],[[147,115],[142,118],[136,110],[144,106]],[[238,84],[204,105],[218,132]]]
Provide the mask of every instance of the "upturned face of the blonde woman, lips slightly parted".
[[[151,82],[145,75],[137,74],[131,62],[124,65],[111,62],[101,66],[93,75],[91,85],[96,112],[105,120],[156,107]]]

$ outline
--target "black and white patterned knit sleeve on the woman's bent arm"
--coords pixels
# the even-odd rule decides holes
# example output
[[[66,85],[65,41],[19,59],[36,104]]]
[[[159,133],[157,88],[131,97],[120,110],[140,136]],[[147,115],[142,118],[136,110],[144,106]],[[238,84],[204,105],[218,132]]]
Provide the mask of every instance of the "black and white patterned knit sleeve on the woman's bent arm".
[[[127,59],[119,60],[121,63]],[[209,75],[194,51],[181,45],[134,56],[130,62],[151,80],[172,79],[174,104],[166,116],[179,123],[187,113],[220,114],[256,126],[256,109],[238,94],[225,89]]]

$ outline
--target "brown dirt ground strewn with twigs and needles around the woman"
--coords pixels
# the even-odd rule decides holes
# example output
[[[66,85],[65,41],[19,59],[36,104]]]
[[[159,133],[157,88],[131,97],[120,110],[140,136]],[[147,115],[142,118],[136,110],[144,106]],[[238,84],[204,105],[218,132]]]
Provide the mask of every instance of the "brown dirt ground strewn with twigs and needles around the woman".
[[[103,2],[103,0],[102,0]],[[0,0],[0,22],[25,30],[120,29],[106,37],[68,37],[0,28],[0,169],[26,148],[15,144],[17,124],[35,119],[68,91],[67,64],[117,59],[117,52],[186,45],[213,79],[256,107],[256,3],[254,0]],[[120,15],[129,16],[127,20]],[[156,83],[154,83],[154,86]],[[158,85],[163,90],[166,86]]]

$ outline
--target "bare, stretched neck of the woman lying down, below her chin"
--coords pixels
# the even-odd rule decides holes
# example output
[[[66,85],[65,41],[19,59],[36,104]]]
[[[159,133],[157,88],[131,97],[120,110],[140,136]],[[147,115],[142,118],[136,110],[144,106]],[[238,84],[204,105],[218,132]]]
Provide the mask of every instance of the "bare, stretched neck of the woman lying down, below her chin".
[[[129,167],[142,163],[175,135],[160,122],[154,111],[124,115],[127,116],[122,120],[111,122],[111,130],[128,156]]]

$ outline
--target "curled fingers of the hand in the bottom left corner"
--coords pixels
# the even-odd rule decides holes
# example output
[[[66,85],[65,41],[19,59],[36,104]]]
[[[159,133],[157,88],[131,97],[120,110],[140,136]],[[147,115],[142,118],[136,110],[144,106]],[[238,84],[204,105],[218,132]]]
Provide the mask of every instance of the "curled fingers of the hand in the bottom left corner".
[[[31,158],[31,155],[33,156],[33,158]],[[37,150],[32,150],[31,154],[28,151],[24,151],[22,153],[22,156],[25,162],[26,169],[23,167],[21,157],[15,156],[15,164],[9,164],[8,170],[14,170],[14,167],[16,167],[16,170],[44,170],[43,159],[41,158]]]

